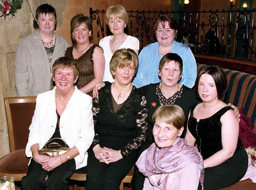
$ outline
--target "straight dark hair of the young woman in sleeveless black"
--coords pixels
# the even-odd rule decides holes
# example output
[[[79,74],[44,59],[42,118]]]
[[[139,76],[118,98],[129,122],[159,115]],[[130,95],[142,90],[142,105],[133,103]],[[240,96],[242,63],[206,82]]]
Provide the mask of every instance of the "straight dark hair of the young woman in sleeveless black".
[[[227,78],[223,70],[218,66],[204,67],[201,71],[199,71],[196,78],[196,82],[195,82],[195,88],[194,88],[197,98],[200,99],[200,96],[198,94],[198,84],[199,84],[200,77],[203,74],[208,74],[212,76],[217,89],[218,99],[223,100],[227,91]]]

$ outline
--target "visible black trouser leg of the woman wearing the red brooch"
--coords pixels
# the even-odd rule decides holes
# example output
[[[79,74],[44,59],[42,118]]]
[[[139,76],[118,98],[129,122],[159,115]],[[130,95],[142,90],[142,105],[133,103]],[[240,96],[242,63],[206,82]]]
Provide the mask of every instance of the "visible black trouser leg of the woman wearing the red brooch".
[[[143,151],[148,149],[148,147],[152,145],[152,143],[154,143],[152,140],[147,139],[146,142],[136,150],[135,162],[139,159]],[[138,167],[134,165],[134,173],[131,181],[131,189],[142,190],[144,181],[145,181],[145,176],[142,173],[140,173]]]

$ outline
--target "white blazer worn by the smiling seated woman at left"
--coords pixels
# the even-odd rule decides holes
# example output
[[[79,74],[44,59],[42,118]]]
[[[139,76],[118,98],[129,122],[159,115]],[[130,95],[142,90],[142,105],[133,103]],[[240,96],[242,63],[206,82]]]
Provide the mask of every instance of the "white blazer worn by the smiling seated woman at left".
[[[30,147],[39,143],[39,149],[52,137],[56,124],[55,91],[38,94],[34,116],[29,127],[29,141],[26,146],[27,157],[32,157]],[[75,157],[76,169],[87,164],[87,150],[94,138],[92,98],[75,87],[67,107],[60,117],[60,135],[67,145],[76,146],[79,155]]]

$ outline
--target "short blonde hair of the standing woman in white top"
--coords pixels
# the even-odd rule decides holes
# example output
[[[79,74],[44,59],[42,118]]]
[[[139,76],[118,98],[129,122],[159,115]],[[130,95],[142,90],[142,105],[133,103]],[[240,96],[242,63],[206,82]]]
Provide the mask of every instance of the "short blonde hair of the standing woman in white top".
[[[106,24],[109,24],[110,19],[122,19],[125,24],[128,23],[128,13],[122,5],[113,5],[106,11]]]

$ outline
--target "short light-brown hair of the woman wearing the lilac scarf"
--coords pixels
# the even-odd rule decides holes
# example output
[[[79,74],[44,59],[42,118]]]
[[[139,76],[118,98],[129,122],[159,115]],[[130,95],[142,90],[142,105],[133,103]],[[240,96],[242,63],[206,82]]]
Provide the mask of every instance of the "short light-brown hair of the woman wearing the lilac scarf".
[[[161,120],[162,122],[173,125],[178,130],[184,126],[185,115],[184,111],[180,106],[177,105],[163,105],[155,110],[152,116],[153,123],[156,120]]]

